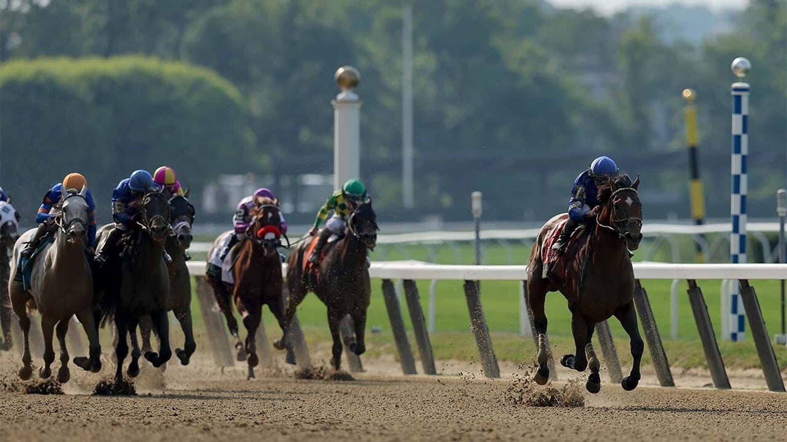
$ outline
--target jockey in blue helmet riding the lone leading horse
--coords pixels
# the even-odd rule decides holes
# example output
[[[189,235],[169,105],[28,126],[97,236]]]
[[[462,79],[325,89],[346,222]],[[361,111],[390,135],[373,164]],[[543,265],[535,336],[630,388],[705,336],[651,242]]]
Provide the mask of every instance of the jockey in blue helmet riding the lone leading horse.
[[[568,238],[571,238],[571,233],[580,224],[588,223],[593,219],[589,213],[598,205],[597,186],[615,175],[618,175],[618,165],[610,157],[604,156],[593,160],[590,167],[579,174],[574,180],[571,200],[568,201],[568,221],[560,232],[560,237],[552,245],[552,250],[562,254]]]

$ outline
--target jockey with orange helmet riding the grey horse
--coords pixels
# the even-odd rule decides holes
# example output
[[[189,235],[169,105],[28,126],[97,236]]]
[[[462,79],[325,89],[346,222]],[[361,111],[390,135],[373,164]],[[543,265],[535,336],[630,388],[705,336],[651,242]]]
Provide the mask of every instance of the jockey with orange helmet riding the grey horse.
[[[65,175],[63,182],[58,182],[52,186],[48,192],[46,192],[46,195],[44,195],[44,199],[41,203],[41,207],[39,208],[39,212],[37,215],[35,215],[35,222],[39,223],[39,228],[38,230],[35,230],[33,238],[31,238],[28,244],[25,245],[24,249],[22,249],[20,252],[20,261],[23,259],[30,260],[30,256],[33,254],[33,251],[35,251],[35,248],[39,246],[41,239],[54,229],[54,219],[55,216],[57,216],[57,212],[59,212],[64,191],[79,192],[83,187],[87,188],[87,180],[85,180],[85,177],[79,173],[72,172],[68,175]],[[91,194],[90,190],[87,190],[85,193],[85,201],[87,201],[87,207],[90,208],[91,211],[87,215],[88,226],[86,247],[87,251],[92,253],[93,242],[96,239],[96,220],[94,212],[96,205],[93,202],[93,195]],[[19,266],[19,268],[21,267],[22,266]]]

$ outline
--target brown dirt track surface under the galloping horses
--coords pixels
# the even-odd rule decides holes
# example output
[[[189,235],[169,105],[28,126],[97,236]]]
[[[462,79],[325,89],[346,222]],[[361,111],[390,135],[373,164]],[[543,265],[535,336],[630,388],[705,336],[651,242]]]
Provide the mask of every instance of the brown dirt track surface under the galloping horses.
[[[787,428],[787,395],[770,392],[606,382],[583,392],[584,407],[527,407],[510,399],[524,385],[511,379],[304,381],[268,370],[249,382],[199,362],[165,374],[143,366],[139,396],[87,396],[98,377],[76,370],[65,396],[39,396],[8,391],[20,385],[18,356],[5,353],[0,440],[779,440]]]

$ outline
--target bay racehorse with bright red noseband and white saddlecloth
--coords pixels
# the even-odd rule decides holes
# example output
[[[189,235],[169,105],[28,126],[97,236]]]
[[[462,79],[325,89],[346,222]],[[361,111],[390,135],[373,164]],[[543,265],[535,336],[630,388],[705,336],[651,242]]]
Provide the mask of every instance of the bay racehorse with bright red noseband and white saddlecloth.
[[[287,338],[289,322],[285,321],[285,304],[282,287],[282,262],[279,258],[278,247],[281,237],[281,218],[279,216],[279,199],[272,200],[267,197],[259,199],[260,205],[254,214],[251,226],[246,230],[246,241],[239,245],[238,251],[227,259],[235,260],[231,268],[234,285],[226,282],[216,282],[208,278],[213,287],[216,302],[227,318],[227,326],[235,337],[235,348],[238,350],[238,360],[246,358],[249,364],[248,378],[254,378],[254,367],[260,362],[257,356],[257,328],[262,320],[262,306],[268,304],[271,313],[279,321],[282,329],[282,338],[274,341],[275,348],[287,349],[287,363],[295,363],[292,345]],[[222,238],[235,234],[230,231],[222,234],[213,243],[213,249],[220,247]],[[211,250],[208,256],[215,251]],[[246,326],[246,345],[242,345],[238,337],[238,322],[232,315],[229,303],[229,293],[235,308],[241,314],[243,325]]]

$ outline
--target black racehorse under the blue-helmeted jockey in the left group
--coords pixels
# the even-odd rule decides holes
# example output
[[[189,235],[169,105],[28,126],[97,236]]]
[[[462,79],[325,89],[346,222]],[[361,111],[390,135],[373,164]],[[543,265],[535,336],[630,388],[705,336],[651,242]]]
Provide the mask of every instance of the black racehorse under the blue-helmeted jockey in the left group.
[[[127,373],[131,378],[139,374],[142,352],[136,330],[142,315],[150,315],[160,341],[159,352],[145,352],[145,359],[159,367],[172,357],[167,319],[169,274],[164,262],[164,242],[171,230],[167,197],[157,191],[146,193],[142,197],[140,214],[142,220],[127,234],[120,258],[116,254],[110,256],[111,260],[107,260],[101,272],[103,296],[99,304],[102,322],[114,319],[117,331],[116,381],[123,378],[123,361],[128,355],[127,333],[133,348]],[[99,229],[97,242],[102,241],[113,227],[114,224],[107,224]]]

